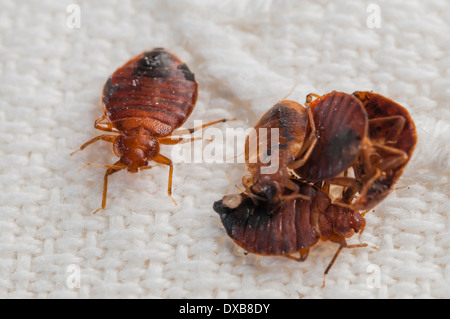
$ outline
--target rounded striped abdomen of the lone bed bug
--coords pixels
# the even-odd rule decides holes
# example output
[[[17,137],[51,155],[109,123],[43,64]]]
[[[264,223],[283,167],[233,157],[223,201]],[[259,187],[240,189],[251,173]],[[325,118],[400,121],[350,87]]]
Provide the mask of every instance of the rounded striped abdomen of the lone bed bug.
[[[145,129],[169,135],[197,100],[194,74],[176,56],[157,48],[117,69],[103,89],[103,110],[120,132]]]

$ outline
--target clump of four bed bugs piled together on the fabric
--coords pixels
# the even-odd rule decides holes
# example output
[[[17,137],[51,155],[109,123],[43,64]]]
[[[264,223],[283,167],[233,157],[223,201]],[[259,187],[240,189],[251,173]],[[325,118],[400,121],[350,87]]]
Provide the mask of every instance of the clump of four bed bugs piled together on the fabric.
[[[267,164],[249,163],[259,154],[248,153],[247,139],[245,189],[213,208],[246,252],[304,261],[319,239],[339,244],[325,284],[343,248],[368,246],[346,238],[364,230],[365,212],[393,190],[417,137],[406,109],[379,94],[310,94],[305,104],[280,101],[255,125],[280,130],[270,152],[279,157],[278,172],[261,174]],[[332,185],[342,187],[334,201]]]

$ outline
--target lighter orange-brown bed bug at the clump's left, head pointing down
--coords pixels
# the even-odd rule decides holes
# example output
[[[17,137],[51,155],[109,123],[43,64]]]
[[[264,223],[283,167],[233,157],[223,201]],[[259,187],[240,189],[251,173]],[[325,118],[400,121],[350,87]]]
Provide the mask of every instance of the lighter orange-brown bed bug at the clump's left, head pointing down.
[[[247,194],[255,201],[273,206],[294,196],[304,197],[290,179],[289,169],[302,166],[316,144],[311,110],[297,102],[282,100],[261,117],[254,129],[255,134],[250,134],[245,143],[249,174],[243,177],[242,184]],[[289,196],[283,195],[285,188],[292,190]]]

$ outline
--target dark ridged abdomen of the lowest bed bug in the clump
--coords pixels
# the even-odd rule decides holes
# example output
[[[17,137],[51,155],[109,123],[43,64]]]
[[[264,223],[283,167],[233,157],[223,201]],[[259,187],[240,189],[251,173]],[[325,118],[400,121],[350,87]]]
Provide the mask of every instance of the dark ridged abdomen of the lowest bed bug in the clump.
[[[312,226],[314,205],[323,211],[330,205],[329,198],[312,186],[303,184],[300,192],[311,200],[287,201],[277,212],[266,205],[255,205],[250,198],[235,209],[226,208],[219,201],[215,210],[228,235],[246,251],[260,255],[293,254],[319,240],[320,235]]]

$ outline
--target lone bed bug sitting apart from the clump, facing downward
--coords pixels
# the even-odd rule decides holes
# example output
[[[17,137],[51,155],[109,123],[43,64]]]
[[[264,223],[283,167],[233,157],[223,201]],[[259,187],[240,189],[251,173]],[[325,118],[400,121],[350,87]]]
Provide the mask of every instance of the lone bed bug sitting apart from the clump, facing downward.
[[[102,97],[104,114],[95,121],[94,127],[115,134],[97,136],[79,149],[102,140],[112,143],[114,154],[120,157],[113,165],[88,164],[107,168],[102,206],[94,213],[105,208],[108,176],[122,169],[132,173],[149,169],[149,161],[169,166],[167,192],[172,198],[173,165],[160,154],[160,145],[194,140],[180,136],[186,130],[182,134],[174,130],[192,113],[197,92],[195,76],[187,65],[162,48],[139,54],[108,78]],[[188,132],[225,121],[204,124]]]

